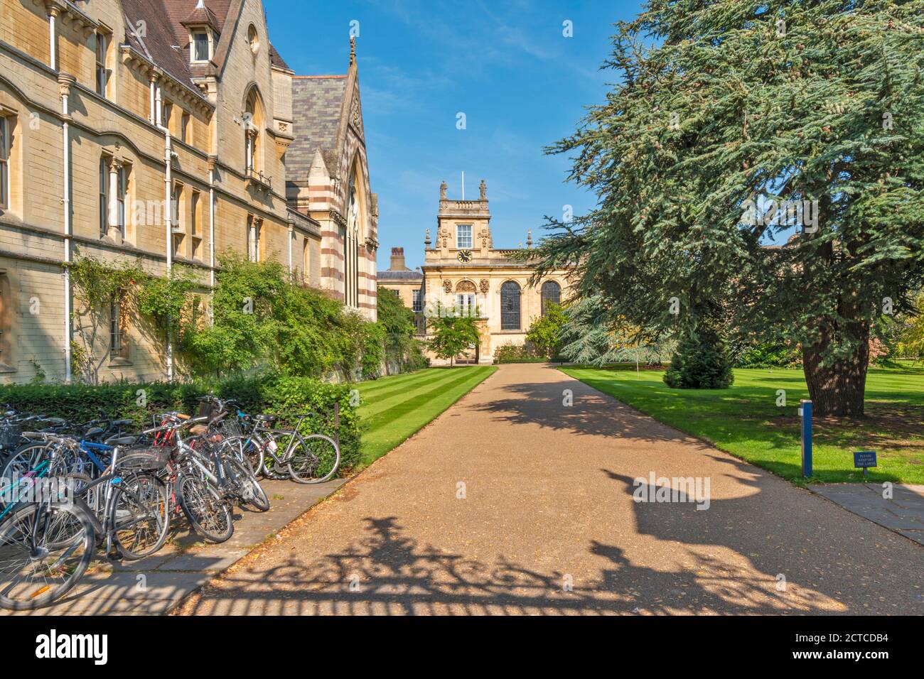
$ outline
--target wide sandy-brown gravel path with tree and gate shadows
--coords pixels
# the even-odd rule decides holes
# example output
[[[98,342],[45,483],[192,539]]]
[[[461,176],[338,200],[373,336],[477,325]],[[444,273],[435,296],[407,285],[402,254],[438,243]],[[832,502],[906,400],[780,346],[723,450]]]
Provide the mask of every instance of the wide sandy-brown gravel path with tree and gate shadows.
[[[917,543],[535,364],[280,535],[179,611],[924,614]]]

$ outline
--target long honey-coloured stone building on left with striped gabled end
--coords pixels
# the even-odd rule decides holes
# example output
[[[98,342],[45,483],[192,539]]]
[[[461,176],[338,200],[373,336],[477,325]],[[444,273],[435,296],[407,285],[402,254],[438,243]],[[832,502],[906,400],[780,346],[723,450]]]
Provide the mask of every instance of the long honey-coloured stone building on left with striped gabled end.
[[[317,107],[260,0],[0,0],[0,381],[182,372],[117,299],[91,332],[80,257],[186,265],[207,311],[234,249],[374,318],[374,285],[356,284],[374,282],[376,200],[352,47],[339,108]],[[290,173],[290,150],[320,151],[327,181]]]

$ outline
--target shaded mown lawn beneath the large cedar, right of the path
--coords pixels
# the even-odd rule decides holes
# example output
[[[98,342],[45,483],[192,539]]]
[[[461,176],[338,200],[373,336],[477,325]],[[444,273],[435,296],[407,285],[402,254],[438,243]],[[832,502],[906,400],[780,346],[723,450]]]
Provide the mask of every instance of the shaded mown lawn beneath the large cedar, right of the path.
[[[732,455],[801,483],[799,400],[808,398],[802,370],[735,370],[730,389],[671,389],[663,370],[566,367],[568,375],[628,406]],[[776,406],[784,389],[786,406]],[[924,369],[869,370],[866,418],[815,418],[814,477],[862,481],[853,453],[873,450],[870,481],[924,483]],[[577,405],[577,404],[576,404]]]

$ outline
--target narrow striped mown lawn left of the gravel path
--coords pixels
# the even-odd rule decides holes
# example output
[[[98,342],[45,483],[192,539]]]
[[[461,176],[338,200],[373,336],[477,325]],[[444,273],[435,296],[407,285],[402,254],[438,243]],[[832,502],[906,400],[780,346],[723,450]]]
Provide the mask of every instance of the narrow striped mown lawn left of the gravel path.
[[[359,384],[363,467],[419,431],[452,406],[494,366],[427,368]]]

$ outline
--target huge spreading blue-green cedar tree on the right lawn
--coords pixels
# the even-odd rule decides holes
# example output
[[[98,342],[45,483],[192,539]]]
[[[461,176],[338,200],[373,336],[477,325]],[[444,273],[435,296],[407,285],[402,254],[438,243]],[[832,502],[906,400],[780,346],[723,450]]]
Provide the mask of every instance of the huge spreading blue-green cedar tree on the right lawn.
[[[599,200],[549,220],[537,276],[577,262],[578,296],[650,333],[801,346],[816,412],[862,415],[884,299],[911,311],[924,283],[922,8],[650,0],[617,24],[619,84],[549,150]]]

